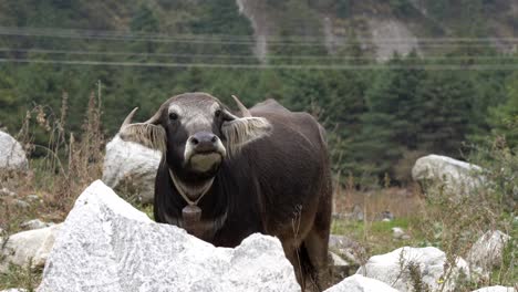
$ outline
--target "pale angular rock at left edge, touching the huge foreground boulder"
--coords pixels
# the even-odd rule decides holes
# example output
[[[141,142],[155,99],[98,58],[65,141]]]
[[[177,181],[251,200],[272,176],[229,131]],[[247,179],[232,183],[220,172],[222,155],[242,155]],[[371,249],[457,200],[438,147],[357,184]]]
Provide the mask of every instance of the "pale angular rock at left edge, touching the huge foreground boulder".
[[[10,236],[2,250],[6,260],[0,262],[0,272],[6,272],[9,263],[27,267],[31,260],[32,268],[43,268],[60,227],[55,225]]]

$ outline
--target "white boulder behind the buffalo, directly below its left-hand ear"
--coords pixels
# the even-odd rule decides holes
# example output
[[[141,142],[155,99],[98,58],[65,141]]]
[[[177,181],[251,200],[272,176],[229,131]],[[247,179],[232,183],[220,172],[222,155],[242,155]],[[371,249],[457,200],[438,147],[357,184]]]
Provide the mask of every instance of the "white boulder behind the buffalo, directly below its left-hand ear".
[[[123,197],[153,202],[160,158],[160,152],[122,140],[117,135],[106,145],[102,180]]]

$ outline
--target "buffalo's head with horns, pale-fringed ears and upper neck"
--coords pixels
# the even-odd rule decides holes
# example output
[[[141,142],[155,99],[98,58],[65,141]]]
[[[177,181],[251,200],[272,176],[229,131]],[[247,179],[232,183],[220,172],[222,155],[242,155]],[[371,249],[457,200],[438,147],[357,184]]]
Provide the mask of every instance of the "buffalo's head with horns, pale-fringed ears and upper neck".
[[[133,109],[120,136],[162,150],[176,188],[195,205],[210,188],[224,159],[231,159],[242,146],[271,131],[266,118],[251,116],[237,97],[235,101],[241,114],[232,114],[206,93],[180,94],[144,123],[132,124],[137,108]]]

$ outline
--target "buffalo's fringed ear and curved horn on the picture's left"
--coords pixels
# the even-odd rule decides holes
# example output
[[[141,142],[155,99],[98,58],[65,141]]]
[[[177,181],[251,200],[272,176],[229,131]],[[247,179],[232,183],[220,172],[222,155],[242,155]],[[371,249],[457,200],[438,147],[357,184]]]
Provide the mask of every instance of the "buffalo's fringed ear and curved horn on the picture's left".
[[[166,150],[166,133],[164,127],[159,125],[159,111],[148,121],[144,123],[132,124],[132,118],[138,107],[135,107],[126,119],[124,119],[118,136],[123,140],[135,142],[152,149]]]

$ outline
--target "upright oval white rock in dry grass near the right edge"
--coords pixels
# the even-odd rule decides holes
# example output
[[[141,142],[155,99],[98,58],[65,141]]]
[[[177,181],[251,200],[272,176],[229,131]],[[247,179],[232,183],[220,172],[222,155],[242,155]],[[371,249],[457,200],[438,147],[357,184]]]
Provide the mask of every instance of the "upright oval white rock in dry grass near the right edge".
[[[485,271],[490,271],[501,263],[501,253],[510,237],[499,230],[487,231],[481,236],[472,249],[469,249],[467,261]]]

